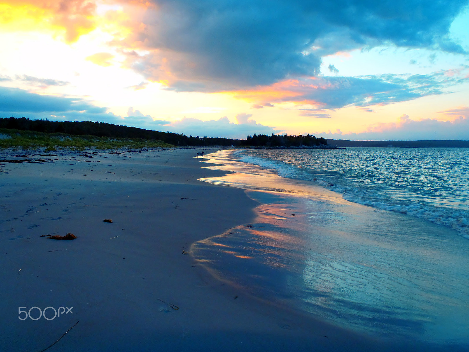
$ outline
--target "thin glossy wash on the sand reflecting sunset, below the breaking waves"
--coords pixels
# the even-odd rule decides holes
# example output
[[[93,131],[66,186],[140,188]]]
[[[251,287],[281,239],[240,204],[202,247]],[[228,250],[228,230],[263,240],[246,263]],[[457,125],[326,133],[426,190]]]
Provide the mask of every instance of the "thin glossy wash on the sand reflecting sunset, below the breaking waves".
[[[260,203],[252,228],[193,245],[214,275],[349,329],[469,346],[469,246],[458,232],[351,203],[230,151],[211,158],[235,173],[204,181],[244,188]]]

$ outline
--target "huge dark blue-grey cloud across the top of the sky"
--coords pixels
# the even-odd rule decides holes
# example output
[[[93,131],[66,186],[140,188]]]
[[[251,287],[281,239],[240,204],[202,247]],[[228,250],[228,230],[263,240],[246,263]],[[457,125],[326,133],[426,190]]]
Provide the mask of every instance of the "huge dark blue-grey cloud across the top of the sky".
[[[467,0],[153,0],[122,41],[131,66],[178,91],[233,90],[315,76],[321,57],[395,45],[465,54],[449,27]],[[124,44],[125,43],[125,44]],[[169,72],[169,73],[168,73]]]

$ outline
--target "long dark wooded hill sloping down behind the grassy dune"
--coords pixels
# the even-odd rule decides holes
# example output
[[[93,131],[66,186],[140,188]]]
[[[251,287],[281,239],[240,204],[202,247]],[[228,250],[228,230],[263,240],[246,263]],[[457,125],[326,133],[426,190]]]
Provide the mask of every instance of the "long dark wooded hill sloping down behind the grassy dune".
[[[204,145],[240,145],[240,139],[192,137],[181,133],[159,132],[144,130],[136,127],[114,125],[106,122],[71,122],[30,120],[26,117],[0,118],[0,128],[15,130],[30,130],[45,133],[67,133],[75,136],[98,136],[109,138],[142,138],[147,140],[161,140],[172,145],[204,146]]]

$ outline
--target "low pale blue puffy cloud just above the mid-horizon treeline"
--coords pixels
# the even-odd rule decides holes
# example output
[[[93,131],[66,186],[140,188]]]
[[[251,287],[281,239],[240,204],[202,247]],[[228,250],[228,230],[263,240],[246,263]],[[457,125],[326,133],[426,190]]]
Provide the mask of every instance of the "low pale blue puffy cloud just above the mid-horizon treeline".
[[[218,120],[202,121],[194,118],[184,117],[181,121],[171,123],[171,128],[167,130],[186,135],[199,137],[226,137],[226,138],[246,138],[254,133],[272,134],[280,133],[282,130],[275,130],[272,127],[256,123],[249,120],[252,115],[238,114],[236,115],[237,124],[230,122],[227,116],[223,116]]]

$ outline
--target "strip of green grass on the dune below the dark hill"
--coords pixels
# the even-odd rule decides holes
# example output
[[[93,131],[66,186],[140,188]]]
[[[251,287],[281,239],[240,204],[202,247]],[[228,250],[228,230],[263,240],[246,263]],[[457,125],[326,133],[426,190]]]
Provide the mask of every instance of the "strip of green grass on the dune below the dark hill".
[[[159,140],[146,140],[142,138],[108,138],[97,136],[73,136],[65,133],[43,133],[35,131],[21,131],[0,129],[0,148],[36,149],[45,147],[45,150],[69,148],[84,150],[96,149],[145,148],[145,147],[174,147]]]

